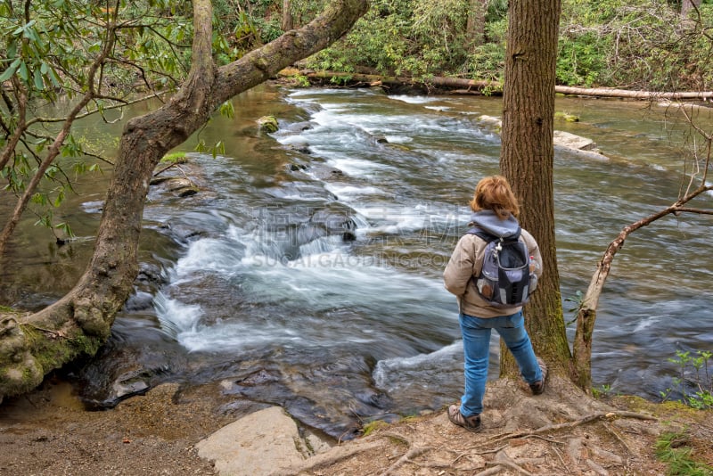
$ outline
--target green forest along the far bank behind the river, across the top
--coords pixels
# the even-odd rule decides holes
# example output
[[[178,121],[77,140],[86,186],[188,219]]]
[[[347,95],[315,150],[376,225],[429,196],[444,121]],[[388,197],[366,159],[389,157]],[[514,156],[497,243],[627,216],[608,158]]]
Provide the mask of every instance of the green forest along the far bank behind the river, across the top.
[[[225,61],[306,23],[323,1],[216,2]],[[243,6],[241,6],[243,4]],[[237,6],[237,9],[236,9]],[[289,7],[285,9],[285,7]],[[287,13],[287,14],[285,14]],[[303,63],[315,70],[502,84],[506,0],[374,0],[348,35]],[[564,0],[562,86],[703,91],[713,78],[713,2]]]

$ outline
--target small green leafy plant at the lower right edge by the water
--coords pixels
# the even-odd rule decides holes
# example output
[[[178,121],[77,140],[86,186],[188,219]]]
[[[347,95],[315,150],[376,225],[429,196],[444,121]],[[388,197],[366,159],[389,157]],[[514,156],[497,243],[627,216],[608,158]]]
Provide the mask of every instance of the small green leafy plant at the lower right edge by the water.
[[[713,408],[713,352],[697,350],[693,354],[686,350],[676,351],[676,357],[669,362],[678,366],[678,376],[672,379],[673,388],[660,392],[667,400],[677,392],[687,406],[698,410]]]

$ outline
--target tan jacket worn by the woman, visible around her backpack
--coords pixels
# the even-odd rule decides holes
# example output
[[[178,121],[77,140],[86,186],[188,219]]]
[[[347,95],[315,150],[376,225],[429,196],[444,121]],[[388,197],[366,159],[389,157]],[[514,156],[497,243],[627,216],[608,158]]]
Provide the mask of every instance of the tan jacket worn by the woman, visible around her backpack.
[[[542,255],[535,238],[526,230],[522,230],[522,239],[528,246],[529,254],[537,262],[535,275],[542,275]],[[480,274],[483,263],[483,253],[487,242],[475,234],[465,234],[455,245],[455,250],[448,260],[446,270],[443,272],[443,282],[446,289],[455,294],[458,299],[458,308],[463,314],[476,317],[510,316],[522,307],[496,308],[488,305],[475,289],[473,276]]]

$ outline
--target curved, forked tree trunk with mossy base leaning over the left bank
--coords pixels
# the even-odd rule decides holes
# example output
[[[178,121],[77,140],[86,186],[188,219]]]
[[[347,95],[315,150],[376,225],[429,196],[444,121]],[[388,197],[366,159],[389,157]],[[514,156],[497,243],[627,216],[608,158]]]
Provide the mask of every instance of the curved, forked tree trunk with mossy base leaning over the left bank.
[[[94,354],[108,338],[137,274],[143,205],[161,157],[205,124],[219,104],[330,45],[367,8],[367,0],[335,0],[302,29],[218,69],[212,61],[211,3],[193,0],[191,73],[168,103],[127,123],[85,274],[66,296],[37,314],[0,316],[0,400],[34,389],[46,373],[81,354]]]

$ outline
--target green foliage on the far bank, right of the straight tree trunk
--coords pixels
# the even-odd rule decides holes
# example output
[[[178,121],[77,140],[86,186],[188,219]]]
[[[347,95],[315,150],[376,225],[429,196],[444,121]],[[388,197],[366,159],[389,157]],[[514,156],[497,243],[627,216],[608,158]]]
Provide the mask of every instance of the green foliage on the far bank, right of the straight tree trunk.
[[[687,23],[679,9],[661,0],[565,1],[557,80],[657,91],[709,89],[711,7],[701,5],[701,21]]]

